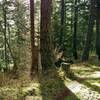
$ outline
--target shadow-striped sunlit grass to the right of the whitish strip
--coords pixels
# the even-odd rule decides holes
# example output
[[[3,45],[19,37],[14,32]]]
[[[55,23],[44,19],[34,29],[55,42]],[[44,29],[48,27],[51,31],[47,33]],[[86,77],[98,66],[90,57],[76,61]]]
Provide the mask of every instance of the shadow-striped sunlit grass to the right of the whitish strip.
[[[89,61],[87,63],[74,64],[71,67],[76,80],[80,83],[90,87],[93,91],[100,93],[100,62],[99,61]]]

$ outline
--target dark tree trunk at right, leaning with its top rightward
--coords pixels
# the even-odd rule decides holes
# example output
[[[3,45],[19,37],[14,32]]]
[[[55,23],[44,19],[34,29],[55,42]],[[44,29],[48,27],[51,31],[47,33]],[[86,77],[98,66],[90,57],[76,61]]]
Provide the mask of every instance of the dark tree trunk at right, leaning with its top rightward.
[[[88,23],[88,32],[86,37],[86,43],[83,51],[82,61],[87,61],[89,59],[89,51],[92,42],[93,27],[95,22],[95,0],[91,0],[90,5],[90,15]]]

